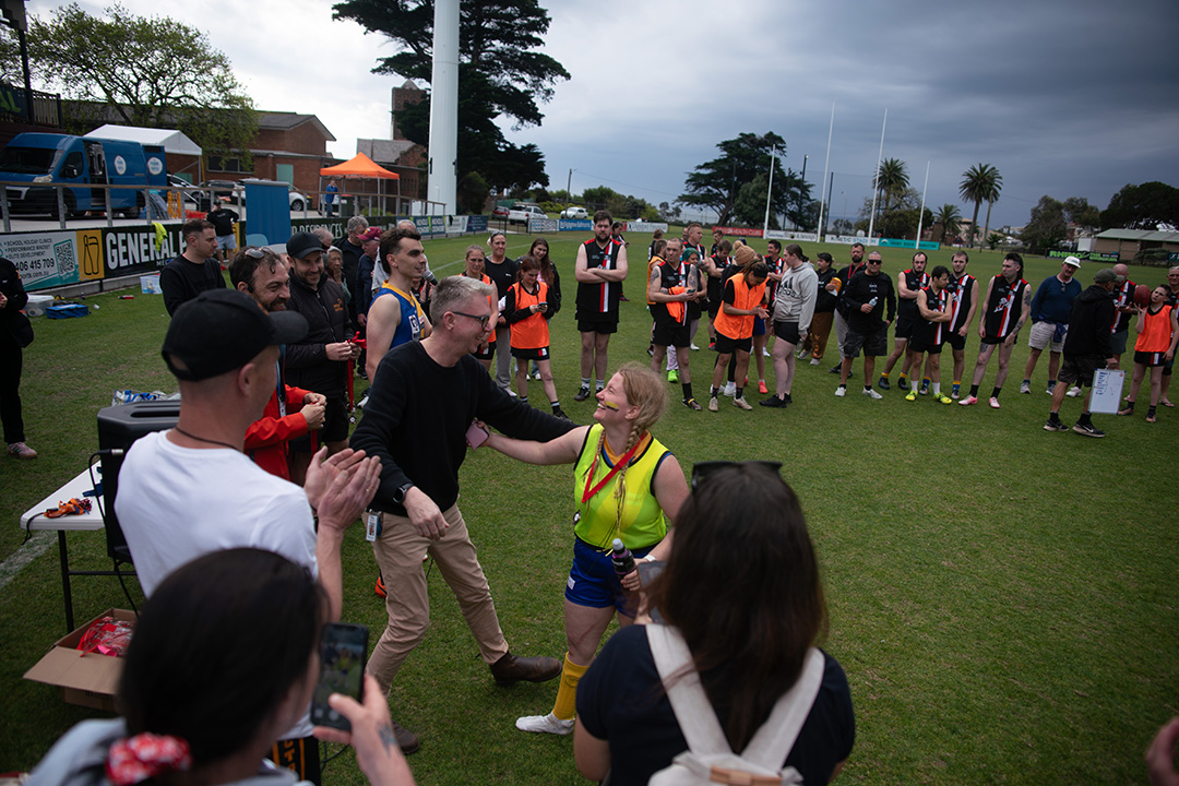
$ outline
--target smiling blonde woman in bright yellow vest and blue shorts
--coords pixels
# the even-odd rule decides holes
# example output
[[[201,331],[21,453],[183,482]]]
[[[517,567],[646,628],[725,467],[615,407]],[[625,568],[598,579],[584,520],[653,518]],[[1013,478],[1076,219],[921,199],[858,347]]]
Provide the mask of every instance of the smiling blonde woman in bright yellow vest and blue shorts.
[[[525,732],[573,732],[578,680],[593,662],[614,613],[634,621],[638,572],[621,580],[611,562],[619,539],[638,561],[661,560],[671,549],[671,522],[687,498],[687,482],[676,457],[648,429],[667,409],[663,381],[627,363],[598,391],[593,425],[552,442],[526,442],[490,434],[487,444],[529,464],[574,464],[573,568],[565,582],[568,653],[556,702],[547,715],[516,720]],[[625,589],[624,589],[625,588]]]

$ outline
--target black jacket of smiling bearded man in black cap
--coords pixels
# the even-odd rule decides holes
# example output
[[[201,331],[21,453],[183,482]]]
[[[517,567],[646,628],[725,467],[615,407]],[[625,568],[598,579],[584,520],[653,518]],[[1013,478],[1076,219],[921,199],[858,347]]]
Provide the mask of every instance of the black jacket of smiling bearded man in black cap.
[[[307,337],[286,346],[286,384],[332,398],[343,396],[348,362],[329,361],[324,345],[354,335],[344,291],[327,273],[321,275],[316,291],[291,272],[291,299],[286,308],[302,313],[308,324]]]

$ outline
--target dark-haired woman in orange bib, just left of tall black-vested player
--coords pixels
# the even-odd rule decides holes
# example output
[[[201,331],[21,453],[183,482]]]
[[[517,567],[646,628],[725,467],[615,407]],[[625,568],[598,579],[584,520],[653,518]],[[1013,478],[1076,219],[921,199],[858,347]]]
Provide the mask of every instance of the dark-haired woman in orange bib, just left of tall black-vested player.
[[[548,309],[549,291],[548,284],[540,280],[540,260],[533,256],[521,258],[516,283],[508,288],[503,298],[503,315],[512,332],[512,357],[516,358],[516,392],[520,401],[528,403],[528,361],[535,361],[540,369],[540,384],[548,396],[553,415],[567,420],[556,397],[548,356],[548,321],[553,318],[553,312]]]

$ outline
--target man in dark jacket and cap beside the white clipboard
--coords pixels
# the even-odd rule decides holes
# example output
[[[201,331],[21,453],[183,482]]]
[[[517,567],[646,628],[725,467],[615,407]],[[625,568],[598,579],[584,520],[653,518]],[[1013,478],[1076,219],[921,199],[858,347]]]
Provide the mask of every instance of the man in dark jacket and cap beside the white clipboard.
[[[1118,358],[1113,355],[1113,337],[1109,325],[1113,324],[1113,290],[1118,283],[1118,273],[1111,267],[1099,270],[1093,276],[1093,286],[1076,296],[1072,313],[1068,317],[1068,335],[1065,337],[1065,363],[1056,376],[1056,387],[1052,390],[1052,411],[1045,431],[1067,431],[1068,427],[1060,420],[1060,405],[1065,402],[1065,392],[1071,384],[1088,387],[1085,394],[1085,409],[1073,430],[1087,437],[1104,437],[1105,431],[1093,425],[1089,414],[1089,397],[1093,395],[1093,374],[1101,368],[1118,368]],[[1120,278],[1125,279],[1125,276]]]

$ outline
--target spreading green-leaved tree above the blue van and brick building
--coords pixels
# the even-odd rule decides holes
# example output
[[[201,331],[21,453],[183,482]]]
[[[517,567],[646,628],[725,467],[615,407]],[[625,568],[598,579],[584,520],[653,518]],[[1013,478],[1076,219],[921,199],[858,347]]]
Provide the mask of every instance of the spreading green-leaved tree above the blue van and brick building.
[[[177,127],[208,152],[249,157],[258,121],[229,58],[199,29],[113,5],[92,16],[77,2],[32,16],[29,59],[66,98],[99,103],[134,126]]]

